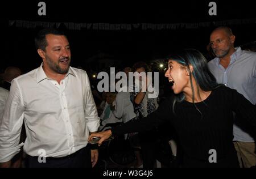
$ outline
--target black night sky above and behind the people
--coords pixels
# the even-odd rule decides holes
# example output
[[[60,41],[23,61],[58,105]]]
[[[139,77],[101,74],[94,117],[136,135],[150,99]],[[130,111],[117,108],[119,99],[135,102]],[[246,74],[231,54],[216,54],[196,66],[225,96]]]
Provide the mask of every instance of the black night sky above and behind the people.
[[[40,1],[9,1],[1,4],[1,72],[7,66],[18,66],[24,73],[41,63],[34,47],[38,28],[9,26],[9,20],[73,23],[197,23],[230,19],[256,18],[253,1],[214,1],[217,16],[208,14],[211,1],[100,2],[43,1],[46,16],[38,15]],[[89,3],[90,2],[90,3]],[[236,46],[256,40],[255,22],[230,26],[236,35]],[[121,62],[119,68],[135,61],[150,62],[165,57],[176,49],[195,48],[207,53],[210,27],[173,30],[100,31],[81,29],[66,31],[72,50],[71,65],[99,70],[92,57],[99,54]]]

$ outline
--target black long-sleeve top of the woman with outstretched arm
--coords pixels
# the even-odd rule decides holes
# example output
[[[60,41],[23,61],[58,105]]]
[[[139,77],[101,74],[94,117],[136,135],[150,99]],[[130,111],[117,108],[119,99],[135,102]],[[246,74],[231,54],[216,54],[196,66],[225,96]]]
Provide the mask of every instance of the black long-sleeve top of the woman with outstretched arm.
[[[154,113],[141,120],[129,121],[112,129],[113,135],[147,131],[163,123],[170,123],[177,131],[184,152],[185,167],[238,167],[233,146],[233,114],[256,129],[256,107],[236,90],[221,86],[204,101],[195,103],[166,99]],[[167,124],[168,125],[168,124]],[[209,163],[210,150],[216,150],[217,163]]]

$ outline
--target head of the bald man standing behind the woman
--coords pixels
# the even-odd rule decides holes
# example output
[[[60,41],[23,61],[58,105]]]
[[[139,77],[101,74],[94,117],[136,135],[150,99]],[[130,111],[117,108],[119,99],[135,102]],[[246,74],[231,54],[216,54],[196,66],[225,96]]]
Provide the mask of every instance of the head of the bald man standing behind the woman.
[[[222,58],[228,55],[234,48],[234,39],[235,37],[228,35],[224,29],[213,31],[210,35],[210,46],[216,57]]]

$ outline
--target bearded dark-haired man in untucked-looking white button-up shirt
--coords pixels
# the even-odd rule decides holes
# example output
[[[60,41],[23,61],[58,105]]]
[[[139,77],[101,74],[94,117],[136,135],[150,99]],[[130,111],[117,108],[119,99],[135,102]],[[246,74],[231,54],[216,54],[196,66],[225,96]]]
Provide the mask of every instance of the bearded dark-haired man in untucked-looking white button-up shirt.
[[[10,167],[24,120],[28,167],[94,167],[98,151],[88,144],[100,123],[84,70],[70,67],[67,37],[43,29],[35,38],[42,65],[11,83],[0,123],[0,163]]]

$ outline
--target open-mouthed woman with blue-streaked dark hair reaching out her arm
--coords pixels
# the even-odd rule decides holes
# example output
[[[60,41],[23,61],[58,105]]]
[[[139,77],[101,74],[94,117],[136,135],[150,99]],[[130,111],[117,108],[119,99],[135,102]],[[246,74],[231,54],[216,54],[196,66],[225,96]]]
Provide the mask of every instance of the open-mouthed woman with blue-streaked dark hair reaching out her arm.
[[[146,118],[130,121],[103,133],[100,145],[111,135],[146,131],[170,123],[183,150],[182,167],[239,167],[233,139],[233,114],[243,116],[256,128],[256,107],[236,90],[217,84],[207,60],[197,50],[187,49],[168,57],[165,74],[174,95]]]

